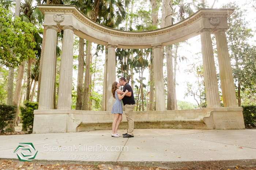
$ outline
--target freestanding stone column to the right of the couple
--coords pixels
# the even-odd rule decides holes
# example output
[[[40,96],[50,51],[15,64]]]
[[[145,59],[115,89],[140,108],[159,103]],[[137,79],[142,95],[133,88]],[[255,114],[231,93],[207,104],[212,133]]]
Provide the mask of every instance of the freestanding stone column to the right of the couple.
[[[163,53],[162,46],[153,46],[153,65],[155,78],[155,108],[156,110],[166,110],[165,108],[165,86],[163,82]]]

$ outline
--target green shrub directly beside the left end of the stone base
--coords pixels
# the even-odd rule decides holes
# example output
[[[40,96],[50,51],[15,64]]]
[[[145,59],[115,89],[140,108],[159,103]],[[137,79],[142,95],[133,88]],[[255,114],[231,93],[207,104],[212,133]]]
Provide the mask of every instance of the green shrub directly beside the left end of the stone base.
[[[34,110],[38,109],[38,103],[33,102],[24,102],[25,107],[20,106],[20,116],[23,120],[22,122],[22,130],[27,131],[27,133],[31,134],[33,131],[33,123],[34,123]]]

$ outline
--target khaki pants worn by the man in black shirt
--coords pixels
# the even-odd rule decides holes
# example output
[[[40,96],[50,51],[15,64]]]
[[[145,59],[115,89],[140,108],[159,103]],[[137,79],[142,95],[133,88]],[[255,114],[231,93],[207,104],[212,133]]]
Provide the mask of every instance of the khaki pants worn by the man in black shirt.
[[[133,129],[134,129],[134,120],[133,120],[133,109],[135,107],[135,104],[125,104],[124,106],[124,111],[125,111],[125,116],[128,122],[128,129],[127,129],[127,134],[133,136]]]

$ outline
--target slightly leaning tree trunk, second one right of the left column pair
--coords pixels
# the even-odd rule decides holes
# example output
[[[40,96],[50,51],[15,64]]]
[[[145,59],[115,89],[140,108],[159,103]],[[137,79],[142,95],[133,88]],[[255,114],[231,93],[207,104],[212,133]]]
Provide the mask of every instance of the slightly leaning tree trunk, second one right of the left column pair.
[[[83,92],[83,104],[82,110],[88,110],[88,99],[89,99],[89,83],[90,83],[90,54],[91,54],[91,41],[88,41],[87,52],[86,52],[86,66],[84,74],[84,92]]]

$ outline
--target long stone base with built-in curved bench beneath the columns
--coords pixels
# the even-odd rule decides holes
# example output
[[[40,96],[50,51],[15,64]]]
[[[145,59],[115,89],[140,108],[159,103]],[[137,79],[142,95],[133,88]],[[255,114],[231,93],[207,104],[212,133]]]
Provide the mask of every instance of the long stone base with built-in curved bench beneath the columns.
[[[134,111],[135,129],[244,129],[242,107]],[[110,111],[34,110],[33,133],[111,130]],[[127,129],[125,114],[119,129]]]

